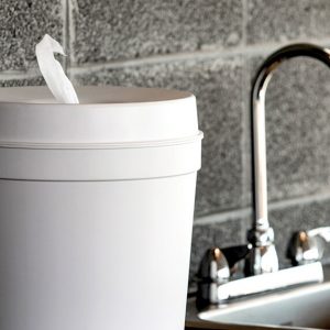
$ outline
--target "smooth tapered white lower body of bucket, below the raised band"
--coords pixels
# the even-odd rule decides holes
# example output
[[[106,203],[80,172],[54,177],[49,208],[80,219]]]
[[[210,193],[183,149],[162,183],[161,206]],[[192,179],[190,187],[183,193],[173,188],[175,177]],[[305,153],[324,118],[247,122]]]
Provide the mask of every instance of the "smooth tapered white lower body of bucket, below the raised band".
[[[184,330],[195,185],[0,180],[0,329]]]

